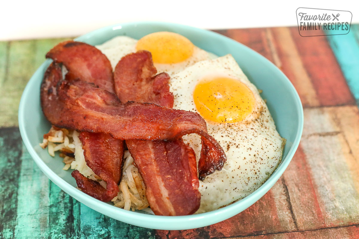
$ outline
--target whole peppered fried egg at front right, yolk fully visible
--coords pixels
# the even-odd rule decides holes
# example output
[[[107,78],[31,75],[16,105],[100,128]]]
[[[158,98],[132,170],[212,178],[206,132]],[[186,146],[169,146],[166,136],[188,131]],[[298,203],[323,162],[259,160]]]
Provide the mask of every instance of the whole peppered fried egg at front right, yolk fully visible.
[[[257,88],[231,55],[198,62],[170,80],[174,109],[199,113],[227,156],[221,171],[200,181],[201,206],[212,211],[260,187],[281,161],[284,139]],[[200,157],[198,135],[183,137]]]

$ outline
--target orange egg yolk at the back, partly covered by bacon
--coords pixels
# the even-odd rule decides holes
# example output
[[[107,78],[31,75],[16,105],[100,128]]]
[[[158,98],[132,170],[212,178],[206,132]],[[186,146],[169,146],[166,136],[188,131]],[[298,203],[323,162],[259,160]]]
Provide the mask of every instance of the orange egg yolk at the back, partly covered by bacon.
[[[192,56],[194,45],[180,34],[155,32],[139,39],[136,50],[151,52],[154,63],[172,64]]]

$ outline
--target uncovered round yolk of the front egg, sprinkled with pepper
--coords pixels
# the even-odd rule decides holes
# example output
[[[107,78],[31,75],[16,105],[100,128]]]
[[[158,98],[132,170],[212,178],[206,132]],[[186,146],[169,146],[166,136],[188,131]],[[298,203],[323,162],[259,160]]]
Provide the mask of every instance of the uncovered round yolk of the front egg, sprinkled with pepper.
[[[241,81],[227,77],[206,78],[193,92],[199,114],[205,120],[236,123],[252,113],[255,97]]]

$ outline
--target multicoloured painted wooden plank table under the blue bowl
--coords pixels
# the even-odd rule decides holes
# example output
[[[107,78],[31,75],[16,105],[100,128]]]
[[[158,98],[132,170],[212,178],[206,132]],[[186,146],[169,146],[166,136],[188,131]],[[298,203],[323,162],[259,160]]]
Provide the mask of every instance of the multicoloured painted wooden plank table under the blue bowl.
[[[27,81],[64,39],[0,42],[0,238],[359,238],[359,25],[323,37],[300,37],[297,27],[218,32],[275,63],[303,102],[302,141],[265,196],[233,218],[183,231],[89,209],[40,171],[18,129]]]

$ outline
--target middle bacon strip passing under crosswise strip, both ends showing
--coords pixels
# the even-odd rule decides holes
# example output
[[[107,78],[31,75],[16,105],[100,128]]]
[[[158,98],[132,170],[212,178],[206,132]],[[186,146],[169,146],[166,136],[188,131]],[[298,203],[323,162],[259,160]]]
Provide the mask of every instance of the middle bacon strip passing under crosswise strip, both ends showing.
[[[151,53],[138,51],[118,62],[115,90],[121,101],[153,102],[172,107],[167,73],[157,72]],[[146,198],[156,215],[189,215],[200,206],[196,156],[182,140],[126,140],[146,186]]]

